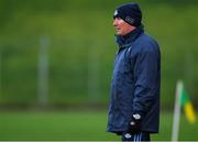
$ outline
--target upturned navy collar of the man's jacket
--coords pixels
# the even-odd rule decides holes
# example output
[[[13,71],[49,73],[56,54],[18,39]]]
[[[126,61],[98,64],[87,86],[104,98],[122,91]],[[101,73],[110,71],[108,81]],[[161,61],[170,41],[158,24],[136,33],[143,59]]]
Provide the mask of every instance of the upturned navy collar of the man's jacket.
[[[128,33],[127,35],[116,35],[117,43],[120,48],[129,47],[129,45],[134,42],[144,32],[143,25],[138,26],[134,31]]]

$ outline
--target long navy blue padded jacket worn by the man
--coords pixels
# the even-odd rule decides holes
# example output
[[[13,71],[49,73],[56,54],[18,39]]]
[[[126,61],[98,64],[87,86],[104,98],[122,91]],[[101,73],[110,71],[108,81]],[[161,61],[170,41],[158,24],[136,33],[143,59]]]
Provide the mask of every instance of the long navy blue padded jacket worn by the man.
[[[158,44],[143,26],[117,36],[119,51],[114,61],[107,131],[128,131],[133,113],[143,117],[141,131],[158,132],[161,53]]]

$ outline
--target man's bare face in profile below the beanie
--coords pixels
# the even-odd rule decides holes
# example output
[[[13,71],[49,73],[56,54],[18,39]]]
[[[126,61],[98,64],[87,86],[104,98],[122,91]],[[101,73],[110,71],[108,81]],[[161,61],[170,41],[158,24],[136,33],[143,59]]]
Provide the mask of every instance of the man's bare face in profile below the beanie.
[[[117,30],[118,35],[125,35],[135,29],[135,26],[130,25],[120,18],[113,20],[113,26]]]

